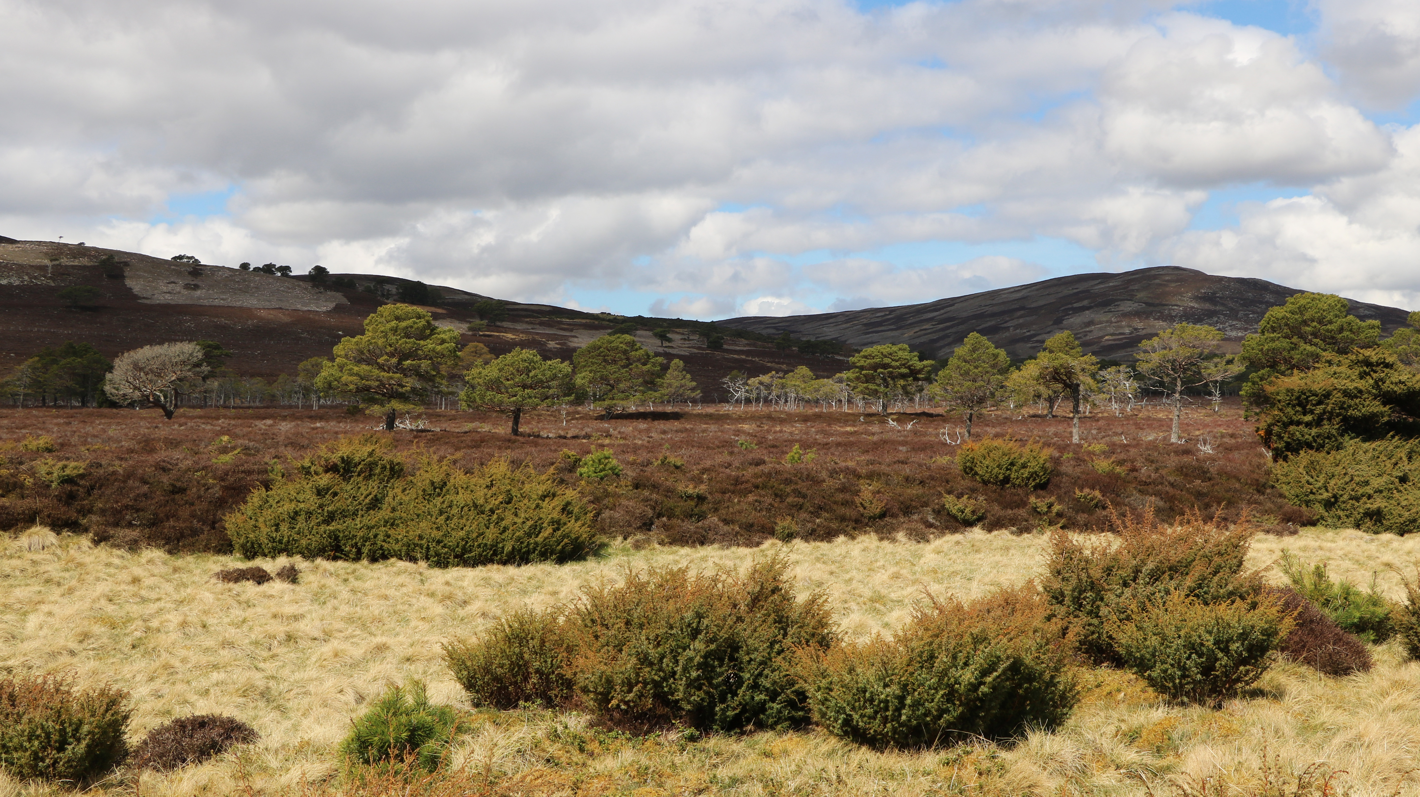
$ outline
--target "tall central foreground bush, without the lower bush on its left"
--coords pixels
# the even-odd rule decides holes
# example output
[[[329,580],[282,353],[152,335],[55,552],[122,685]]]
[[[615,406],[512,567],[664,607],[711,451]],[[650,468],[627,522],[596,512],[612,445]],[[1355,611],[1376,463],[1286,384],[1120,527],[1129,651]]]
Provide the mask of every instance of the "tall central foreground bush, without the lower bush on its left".
[[[642,729],[802,725],[808,706],[792,651],[834,641],[824,597],[797,600],[778,557],[744,575],[633,573],[619,587],[586,590],[567,625],[579,700]]]

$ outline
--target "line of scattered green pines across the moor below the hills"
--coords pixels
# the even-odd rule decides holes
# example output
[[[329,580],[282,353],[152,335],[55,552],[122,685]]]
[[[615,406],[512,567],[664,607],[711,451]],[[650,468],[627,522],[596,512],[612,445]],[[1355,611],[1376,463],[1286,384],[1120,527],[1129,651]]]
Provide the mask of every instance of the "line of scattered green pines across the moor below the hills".
[[[970,439],[980,412],[1034,403],[1055,416],[1068,402],[1074,442],[1079,442],[1079,418],[1091,406],[1129,412],[1146,401],[1143,391],[1149,389],[1173,409],[1170,439],[1177,442],[1189,392],[1204,391],[1217,409],[1224,385],[1245,375],[1244,398],[1264,409],[1278,379],[1315,368],[1328,357],[1379,347],[1406,367],[1420,361],[1420,330],[1400,330],[1382,341],[1379,322],[1362,322],[1346,308],[1336,296],[1298,294],[1269,310],[1237,355],[1220,351],[1221,331],[1180,322],[1140,341],[1132,365],[1102,364],[1082,351],[1071,331],[1052,335],[1035,357],[1012,365],[1004,349],[971,332],[944,362],[924,359],[905,344],[883,344],[856,352],[846,371],[826,378],[799,367],[758,376],[734,371],[720,384],[730,403],[741,408],[818,405],[888,413],[946,406],[961,413],[963,439]],[[491,300],[480,303],[479,311],[486,320],[476,322],[480,325],[506,317],[503,304]],[[1420,313],[1411,314],[1411,322],[1420,325]],[[459,334],[435,325],[427,311],[389,304],[365,320],[365,334],[342,340],[331,358],[307,359],[294,376],[273,382],[224,369],[223,358],[231,352],[213,341],[143,347],[112,364],[89,344],[67,342],[27,359],[4,389],[18,405],[138,403],[159,408],[169,418],[183,403],[236,406],[275,398],[314,408],[341,402],[382,416],[388,429],[399,413],[430,401],[442,408],[457,402],[463,409],[507,413],[514,435],[528,409],[585,402],[611,418],[657,402],[674,408],[699,399],[700,386],[684,364],[667,364],[636,342],[635,332],[636,325],[628,321],[578,349],[571,362],[544,359],[527,348],[494,357],[480,342],[460,348]],[[665,344],[670,330],[657,328],[653,335]],[[785,335],[774,341],[780,348],[792,344]]]

